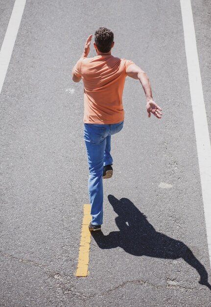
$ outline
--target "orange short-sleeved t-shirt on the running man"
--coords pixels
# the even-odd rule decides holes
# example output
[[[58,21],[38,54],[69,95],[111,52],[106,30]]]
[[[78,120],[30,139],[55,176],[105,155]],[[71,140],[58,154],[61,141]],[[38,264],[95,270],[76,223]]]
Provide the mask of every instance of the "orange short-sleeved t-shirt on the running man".
[[[84,82],[84,123],[108,125],[124,120],[122,94],[131,64],[108,54],[78,60],[74,73]]]

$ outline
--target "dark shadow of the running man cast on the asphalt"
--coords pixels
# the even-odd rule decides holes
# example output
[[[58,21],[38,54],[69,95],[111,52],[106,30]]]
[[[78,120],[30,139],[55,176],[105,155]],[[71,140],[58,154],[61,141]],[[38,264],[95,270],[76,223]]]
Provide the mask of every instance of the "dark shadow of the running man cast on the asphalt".
[[[200,261],[183,242],[157,232],[147,221],[146,216],[127,198],[117,200],[108,196],[110,204],[118,214],[115,221],[119,231],[104,235],[102,231],[91,231],[94,240],[101,249],[121,247],[135,256],[150,256],[164,259],[183,258],[200,275],[199,283],[211,290],[208,273]]]

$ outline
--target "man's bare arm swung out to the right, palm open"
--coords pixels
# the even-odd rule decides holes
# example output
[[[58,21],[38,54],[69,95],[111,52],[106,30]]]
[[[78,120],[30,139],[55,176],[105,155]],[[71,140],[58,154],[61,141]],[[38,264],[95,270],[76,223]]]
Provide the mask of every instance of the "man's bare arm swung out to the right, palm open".
[[[148,116],[150,117],[151,114],[154,114],[157,118],[161,118],[161,107],[158,106],[152,98],[152,89],[151,89],[151,85],[149,82],[149,78],[146,75],[146,73],[136,64],[131,64],[130,66],[127,67],[126,69],[126,74],[127,76],[134,78],[134,79],[138,79],[141,82],[141,85],[143,87],[145,96],[146,96],[146,110],[148,112]]]

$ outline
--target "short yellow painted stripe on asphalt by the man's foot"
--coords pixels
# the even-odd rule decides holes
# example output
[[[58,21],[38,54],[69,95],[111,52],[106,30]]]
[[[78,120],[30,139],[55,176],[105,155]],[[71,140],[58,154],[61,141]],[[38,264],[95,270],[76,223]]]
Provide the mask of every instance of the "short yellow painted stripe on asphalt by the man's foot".
[[[91,233],[88,228],[91,222],[91,205],[84,205],[84,217],[81,228],[81,242],[79,248],[78,256],[78,267],[75,276],[77,277],[86,277],[88,275],[88,266],[89,266],[89,256],[90,256],[90,241]]]

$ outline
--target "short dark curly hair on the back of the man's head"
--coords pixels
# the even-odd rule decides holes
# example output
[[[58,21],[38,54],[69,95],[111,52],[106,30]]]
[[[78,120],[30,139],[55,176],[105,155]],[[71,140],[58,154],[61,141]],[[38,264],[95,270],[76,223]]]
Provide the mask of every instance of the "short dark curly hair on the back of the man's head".
[[[104,26],[97,29],[94,33],[94,43],[100,52],[109,52],[113,41],[114,33]]]

